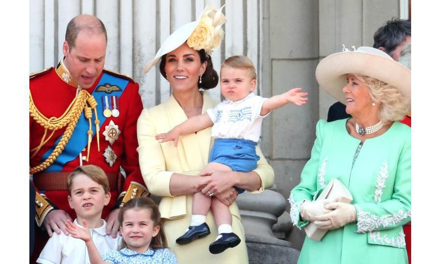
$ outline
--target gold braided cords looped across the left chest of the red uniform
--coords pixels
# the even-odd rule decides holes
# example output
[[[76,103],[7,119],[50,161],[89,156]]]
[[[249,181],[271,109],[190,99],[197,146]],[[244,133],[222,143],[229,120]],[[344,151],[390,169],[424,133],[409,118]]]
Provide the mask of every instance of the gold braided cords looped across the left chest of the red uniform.
[[[58,156],[64,150],[66,144],[69,142],[70,137],[72,136],[73,130],[75,129],[76,124],[78,123],[79,117],[81,116],[83,109],[87,107],[88,98],[93,96],[89,94],[86,90],[79,91],[78,96],[76,96],[73,99],[68,109],[66,110],[66,112],[64,112],[63,115],[61,115],[61,117],[59,118],[51,117],[49,119],[46,118],[35,107],[35,104],[32,99],[32,95],[30,93],[29,93],[29,97],[30,97],[29,100],[30,116],[32,117],[33,120],[35,120],[37,123],[39,123],[41,126],[45,128],[45,134],[43,136],[43,139],[41,140],[40,145],[32,149],[32,151],[35,151],[33,156],[35,156],[36,152],[38,152],[40,148],[50,139],[50,137],[52,137],[53,132],[51,133],[48,139],[44,140],[44,138],[46,137],[47,129],[57,130],[67,125],[66,131],[64,131],[64,134],[61,137],[60,142],[56,145],[55,149],[52,151],[50,156],[40,165],[29,169],[29,173],[34,174],[49,167],[58,158]]]

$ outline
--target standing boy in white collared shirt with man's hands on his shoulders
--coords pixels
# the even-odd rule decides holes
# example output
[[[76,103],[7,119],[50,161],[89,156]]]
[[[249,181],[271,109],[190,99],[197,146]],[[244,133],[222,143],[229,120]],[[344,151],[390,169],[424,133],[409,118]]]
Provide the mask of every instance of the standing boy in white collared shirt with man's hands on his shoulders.
[[[106,221],[101,219],[102,210],[110,202],[109,181],[105,172],[94,165],[80,166],[68,178],[69,205],[75,210],[75,225],[82,227],[83,220],[91,232],[92,240],[101,255],[109,250],[117,250],[120,244],[107,235]],[[90,264],[86,243],[61,232],[54,233],[37,260],[40,264]]]

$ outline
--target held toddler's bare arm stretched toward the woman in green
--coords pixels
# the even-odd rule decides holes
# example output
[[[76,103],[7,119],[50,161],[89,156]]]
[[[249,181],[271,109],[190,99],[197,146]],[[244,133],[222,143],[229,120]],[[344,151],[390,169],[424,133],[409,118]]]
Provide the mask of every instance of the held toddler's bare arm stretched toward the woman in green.
[[[301,106],[305,104],[308,99],[304,96],[307,96],[307,93],[301,93],[301,88],[294,88],[282,95],[272,96],[263,102],[260,116],[265,116],[270,111],[278,109],[287,103],[294,103]]]

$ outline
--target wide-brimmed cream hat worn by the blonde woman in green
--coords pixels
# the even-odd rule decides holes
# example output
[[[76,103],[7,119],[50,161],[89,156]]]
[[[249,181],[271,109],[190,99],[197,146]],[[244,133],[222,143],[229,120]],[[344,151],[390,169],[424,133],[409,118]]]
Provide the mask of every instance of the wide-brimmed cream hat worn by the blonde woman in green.
[[[330,96],[346,104],[342,88],[347,84],[347,74],[356,74],[383,81],[411,99],[411,70],[377,48],[344,50],[325,57],[316,68],[316,80]]]

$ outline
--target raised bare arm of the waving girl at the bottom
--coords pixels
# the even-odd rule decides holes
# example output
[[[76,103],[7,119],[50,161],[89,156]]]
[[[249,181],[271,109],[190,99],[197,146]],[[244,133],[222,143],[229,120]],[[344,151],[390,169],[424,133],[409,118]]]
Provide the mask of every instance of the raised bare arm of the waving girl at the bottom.
[[[98,249],[93,243],[92,236],[90,235],[90,231],[87,228],[86,220],[83,220],[83,226],[79,227],[72,223],[70,220],[66,222],[66,228],[69,232],[70,236],[75,239],[84,240],[86,242],[87,251],[89,251],[89,260],[91,264],[105,264],[102,260],[101,254],[99,254]]]

